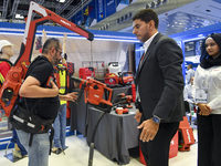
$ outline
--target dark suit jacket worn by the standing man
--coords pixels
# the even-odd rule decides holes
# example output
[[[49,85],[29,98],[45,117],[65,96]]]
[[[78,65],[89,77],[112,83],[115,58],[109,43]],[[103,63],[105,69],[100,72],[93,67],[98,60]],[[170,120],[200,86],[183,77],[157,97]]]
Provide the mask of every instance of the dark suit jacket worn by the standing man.
[[[183,117],[182,51],[175,40],[158,33],[151,41],[136,74],[140,112],[145,120],[152,114],[164,122]]]

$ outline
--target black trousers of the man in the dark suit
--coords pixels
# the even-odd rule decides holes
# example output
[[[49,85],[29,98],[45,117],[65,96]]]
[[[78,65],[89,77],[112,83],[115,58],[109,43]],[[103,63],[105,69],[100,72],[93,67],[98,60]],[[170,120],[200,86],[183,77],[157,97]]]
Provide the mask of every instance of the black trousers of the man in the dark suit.
[[[147,166],[168,166],[170,142],[178,127],[179,122],[161,123],[152,141],[148,143],[140,141],[141,152]]]

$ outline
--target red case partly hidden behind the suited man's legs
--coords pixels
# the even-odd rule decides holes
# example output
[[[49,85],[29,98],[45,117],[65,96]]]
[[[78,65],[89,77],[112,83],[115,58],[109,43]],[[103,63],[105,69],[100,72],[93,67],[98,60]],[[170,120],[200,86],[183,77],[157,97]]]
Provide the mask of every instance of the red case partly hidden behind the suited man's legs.
[[[173,138],[170,142],[169,158],[176,157],[177,154],[178,154],[178,132],[175,134]],[[147,166],[140,147],[139,147],[139,160],[141,164]]]

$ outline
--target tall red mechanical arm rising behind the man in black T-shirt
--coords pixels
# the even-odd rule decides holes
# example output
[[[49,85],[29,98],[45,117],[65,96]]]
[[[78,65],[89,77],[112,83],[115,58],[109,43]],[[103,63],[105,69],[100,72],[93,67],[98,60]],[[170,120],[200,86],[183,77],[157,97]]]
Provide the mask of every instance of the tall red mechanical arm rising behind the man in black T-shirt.
[[[42,18],[32,20],[33,12],[42,15]],[[0,104],[3,107],[7,116],[9,116],[14,106],[14,102],[19,95],[19,89],[30,65],[36,27],[50,20],[70,29],[73,32],[76,32],[82,37],[87,38],[90,41],[93,41],[94,39],[93,33],[31,1],[19,58],[8,72],[6,81],[0,87]]]

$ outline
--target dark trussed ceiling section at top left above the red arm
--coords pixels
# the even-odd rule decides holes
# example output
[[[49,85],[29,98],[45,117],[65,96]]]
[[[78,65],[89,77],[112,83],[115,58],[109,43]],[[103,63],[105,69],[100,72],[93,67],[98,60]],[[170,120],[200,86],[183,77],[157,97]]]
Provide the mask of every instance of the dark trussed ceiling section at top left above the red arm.
[[[82,7],[88,4],[92,0],[32,0],[44,8],[57,13],[59,15],[71,19]],[[31,0],[0,0],[0,19],[8,19],[19,22],[22,18],[15,18],[17,14],[28,15]],[[35,15],[38,17],[38,15]]]

